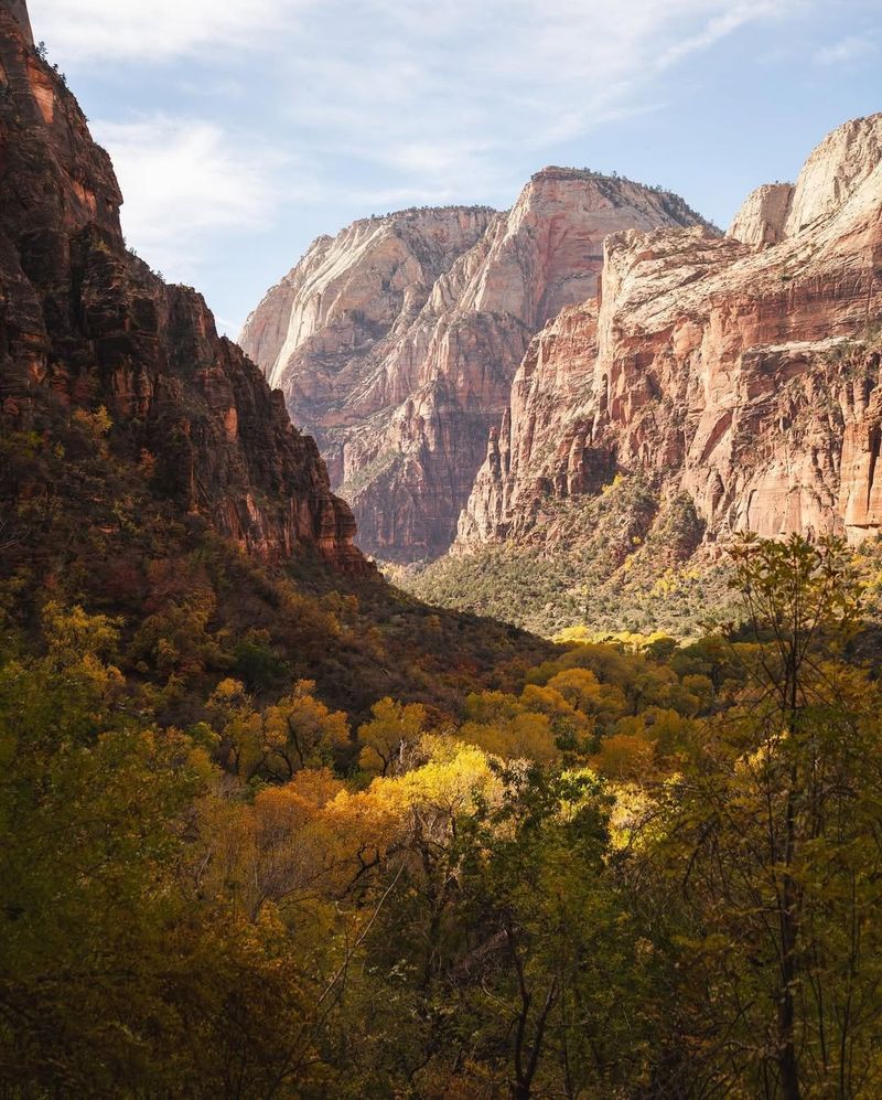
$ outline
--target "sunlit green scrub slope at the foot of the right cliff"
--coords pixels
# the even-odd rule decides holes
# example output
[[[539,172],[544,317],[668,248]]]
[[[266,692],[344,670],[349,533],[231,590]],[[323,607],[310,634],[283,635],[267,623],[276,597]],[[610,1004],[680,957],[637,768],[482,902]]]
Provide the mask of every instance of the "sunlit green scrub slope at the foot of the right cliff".
[[[648,479],[619,474],[596,496],[546,498],[524,540],[384,569],[430,604],[546,637],[587,626],[696,638],[735,612],[728,559],[692,557],[702,533],[688,496],[663,501]]]

